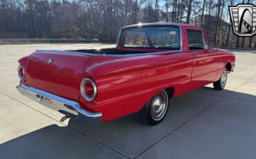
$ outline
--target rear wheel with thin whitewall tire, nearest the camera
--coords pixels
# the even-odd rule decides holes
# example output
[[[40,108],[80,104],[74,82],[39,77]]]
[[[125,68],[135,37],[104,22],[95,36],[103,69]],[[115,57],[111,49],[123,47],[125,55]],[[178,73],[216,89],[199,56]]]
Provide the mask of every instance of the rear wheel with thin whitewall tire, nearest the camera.
[[[140,116],[149,125],[156,125],[163,121],[169,107],[170,97],[167,91],[162,90],[140,111]]]

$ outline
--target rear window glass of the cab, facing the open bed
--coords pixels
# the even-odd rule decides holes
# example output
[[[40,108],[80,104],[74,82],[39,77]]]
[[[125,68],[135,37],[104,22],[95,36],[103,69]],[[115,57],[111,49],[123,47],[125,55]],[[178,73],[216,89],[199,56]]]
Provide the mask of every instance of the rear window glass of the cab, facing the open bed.
[[[122,33],[122,47],[179,50],[179,28],[161,26],[127,29]]]

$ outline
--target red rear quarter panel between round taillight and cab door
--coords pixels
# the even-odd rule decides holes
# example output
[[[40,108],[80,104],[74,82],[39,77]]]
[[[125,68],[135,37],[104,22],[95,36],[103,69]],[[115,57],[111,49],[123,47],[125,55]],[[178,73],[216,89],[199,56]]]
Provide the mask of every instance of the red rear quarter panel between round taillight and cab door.
[[[96,60],[100,57],[92,57]],[[81,102],[86,109],[102,112],[102,121],[140,111],[164,88],[174,86],[174,96],[188,91],[192,70],[190,53],[166,53],[107,60],[88,66],[84,77],[98,86],[93,102]]]

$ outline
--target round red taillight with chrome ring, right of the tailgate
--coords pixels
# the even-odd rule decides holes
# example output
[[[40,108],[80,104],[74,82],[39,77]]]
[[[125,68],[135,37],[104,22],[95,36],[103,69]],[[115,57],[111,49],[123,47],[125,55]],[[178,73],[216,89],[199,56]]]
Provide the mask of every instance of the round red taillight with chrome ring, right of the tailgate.
[[[97,95],[97,86],[92,79],[84,78],[80,84],[80,91],[84,100],[92,101]]]

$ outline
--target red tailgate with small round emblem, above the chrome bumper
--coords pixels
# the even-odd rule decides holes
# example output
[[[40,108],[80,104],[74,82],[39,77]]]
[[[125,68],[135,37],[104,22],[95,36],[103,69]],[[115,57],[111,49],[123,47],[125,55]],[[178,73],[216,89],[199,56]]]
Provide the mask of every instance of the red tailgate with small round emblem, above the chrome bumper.
[[[25,84],[77,100],[89,55],[37,51],[28,58]]]

